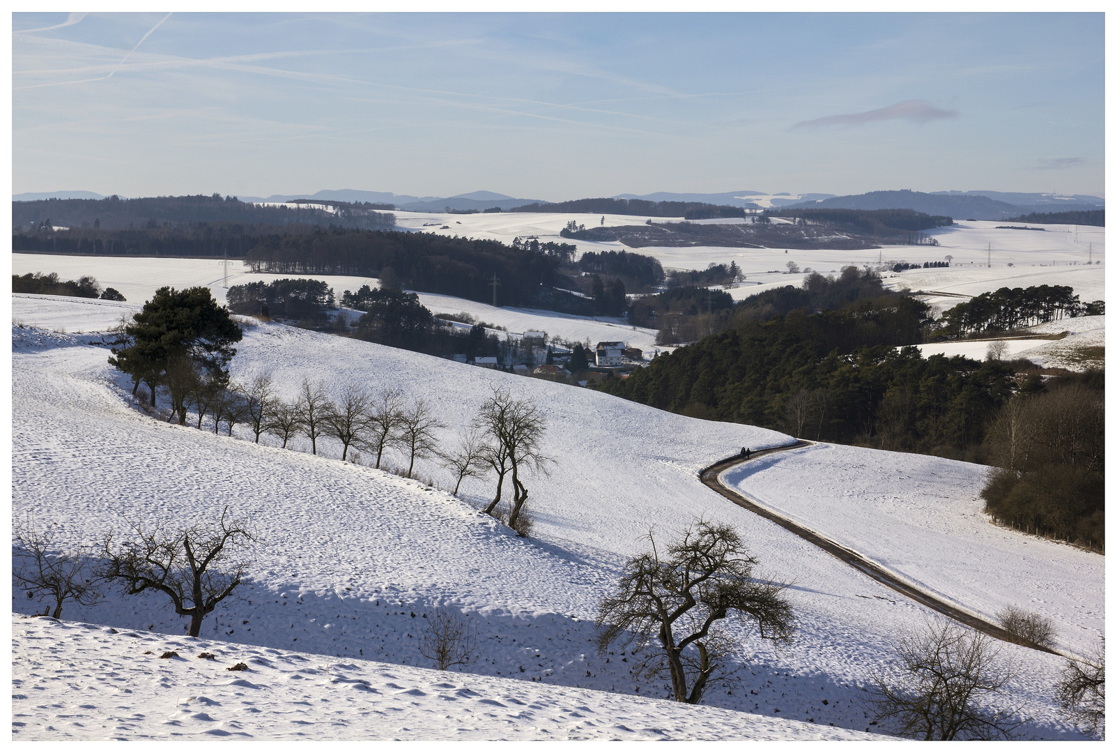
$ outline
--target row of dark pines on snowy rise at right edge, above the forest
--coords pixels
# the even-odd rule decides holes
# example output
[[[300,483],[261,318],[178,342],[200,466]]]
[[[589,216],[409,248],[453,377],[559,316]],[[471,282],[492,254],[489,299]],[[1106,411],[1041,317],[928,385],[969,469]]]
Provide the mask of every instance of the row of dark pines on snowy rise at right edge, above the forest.
[[[1002,287],[982,293],[943,312],[935,336],[962,337],[980,332],[1009,332],[1063,316],[1104,313],[1105,303],[1082,305],[1069,285]]]

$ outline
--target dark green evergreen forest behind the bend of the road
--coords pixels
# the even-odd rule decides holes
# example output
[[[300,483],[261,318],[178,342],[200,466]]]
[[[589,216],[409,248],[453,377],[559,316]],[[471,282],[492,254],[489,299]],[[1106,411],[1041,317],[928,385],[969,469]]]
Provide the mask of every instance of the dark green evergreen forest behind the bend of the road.
[[[862,285],[869,278],[871,289],[868,275],[853,269],[849,277]],[[817,301],[840,288],[838,280],[822,279]],[[980,454],[986,427],[1012,394],[1012,364],[922,358],[910,345],[920,342],[929,312],[908,296],[780,313],[801,295],[810,297],[792,290],[772,292],[773,299],[735,312],[725,331],[599,389],[672,412],[811,439],[951,457]]]

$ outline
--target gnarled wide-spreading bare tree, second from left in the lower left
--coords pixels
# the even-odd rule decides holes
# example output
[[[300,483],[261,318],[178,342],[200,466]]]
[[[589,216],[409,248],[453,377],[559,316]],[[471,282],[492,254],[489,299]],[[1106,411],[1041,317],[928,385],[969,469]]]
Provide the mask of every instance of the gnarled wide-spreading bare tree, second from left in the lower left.
[[[229,508],[216,524],[171,530],[133,526],[135,541],[120,545],[105,540],[108,561],[104,576],[123,581],[127,593],[160,591],[171,598],[174,612],[190,618],[188,633],[198,637],[202,619],[231,594],[245,576],[248,561],[240,556],[257,541],[246,524],[229,521]]]

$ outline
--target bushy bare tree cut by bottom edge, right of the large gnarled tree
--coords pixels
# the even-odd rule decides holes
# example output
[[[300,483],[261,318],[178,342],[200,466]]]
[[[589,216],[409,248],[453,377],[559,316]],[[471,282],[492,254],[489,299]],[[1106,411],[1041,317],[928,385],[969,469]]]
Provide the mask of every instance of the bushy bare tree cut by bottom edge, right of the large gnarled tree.
[[[917,740],[1009,740],[1018,709],[986,704],[1004,695],[1012,670],[997,664],[993,639],[946,618],[892,644],[896,679],[877,674],[866,702],[876,722]]]

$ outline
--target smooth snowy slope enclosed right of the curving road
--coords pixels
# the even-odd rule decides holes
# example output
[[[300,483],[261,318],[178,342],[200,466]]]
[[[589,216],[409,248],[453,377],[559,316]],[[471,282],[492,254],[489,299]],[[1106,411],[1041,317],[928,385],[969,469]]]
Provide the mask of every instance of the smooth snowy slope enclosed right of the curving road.
[[[913,585],[996,622],[1006,606],[1049,618],[1056,644],[1105,636],[1105,557],[991,525],[989,468],[926,455],[819,444],[722,474],[724,484],[869,556]]]

